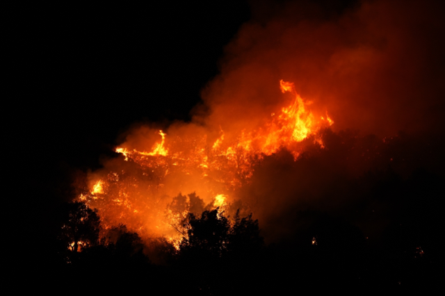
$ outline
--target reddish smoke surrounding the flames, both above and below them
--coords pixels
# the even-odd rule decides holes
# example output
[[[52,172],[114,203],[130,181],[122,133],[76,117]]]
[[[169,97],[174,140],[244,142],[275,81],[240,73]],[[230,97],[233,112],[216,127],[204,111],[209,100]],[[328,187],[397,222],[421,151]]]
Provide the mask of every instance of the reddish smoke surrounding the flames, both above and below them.
[[[170,151],[185,155],[196,147],[211,147],[222,133],[230,143],[243,131],[260,129],[293,99],[280,92],[280,79],[295,83],[314,115],[328,114],[334,120],[330,129],[321,131],[325,148],[308,138],[301,143],[304,153],[297,161],[286,149],[266,156],[250,180],[232,191],[220,183],[194,179],[199,172],[169,173],[163,179],[163,194],[171,199],[179,192],[196,192],[209,204],[223,192],[229,202],[238,200],[245,211],[254,212],[268,241],[290,236],[298,227],[298,211],[343,213],[362,225],[362,231],[387,224],[389,205],[381,200],[365,202],[373,188],[365,173],[374,172],[371,183],[391,180],[391,174],[383,173],[390,167],[406,179],[417,167],[434,167],[437,159],[422,151],[439,154],[431,148],[437,141],[406,133],[430,135],[442,129],[441,4],[362,1],[328,15],[320,7],[293,1],[267,9],[267,5],[254,8],[252,20],[227,44],[220,74],[202,90],[202,104],[192,111],[192,122],[163,129],[180,143],[170,145],[181,145],[170,146]],[[149,151],[161,138],[159,129],[137,126],[123,135],[120,147]],[[123,163],[123,157],[105,161],[104,170],[90,175],[91,182],[111,171],[131,170]],[[153,177],[146,187],[155,188],[155,183]],[[357,196],[363,198],[357,201]],[[165,206],[170,199],[153,201]],[[360,211],[349,211],[359,203]],[[366,222],[370,211],[380,214]]]

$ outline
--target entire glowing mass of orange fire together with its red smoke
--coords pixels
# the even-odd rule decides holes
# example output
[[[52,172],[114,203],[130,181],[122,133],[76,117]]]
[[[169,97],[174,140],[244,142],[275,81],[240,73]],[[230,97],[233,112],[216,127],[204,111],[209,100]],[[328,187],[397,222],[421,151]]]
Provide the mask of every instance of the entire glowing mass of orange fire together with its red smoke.
[[[440,130],[442,69],[424,53],[443,57],[412,31],[439,30],[415,4],[400,12],[397,1],[364,1],[301,19],[289,2],[245,24],[191,122],[129,129],[120,157],[89,174],[79,199],[106,227],[127,224],[146,238],[175,238],[185,213],[218,206],[244,208],[276,234],[286,229],[277,217],[296,204],[324,211],[354,201],[364,172],[391,167],[406,178],[434,167],[422,151],[431,149],[425,131]]]

